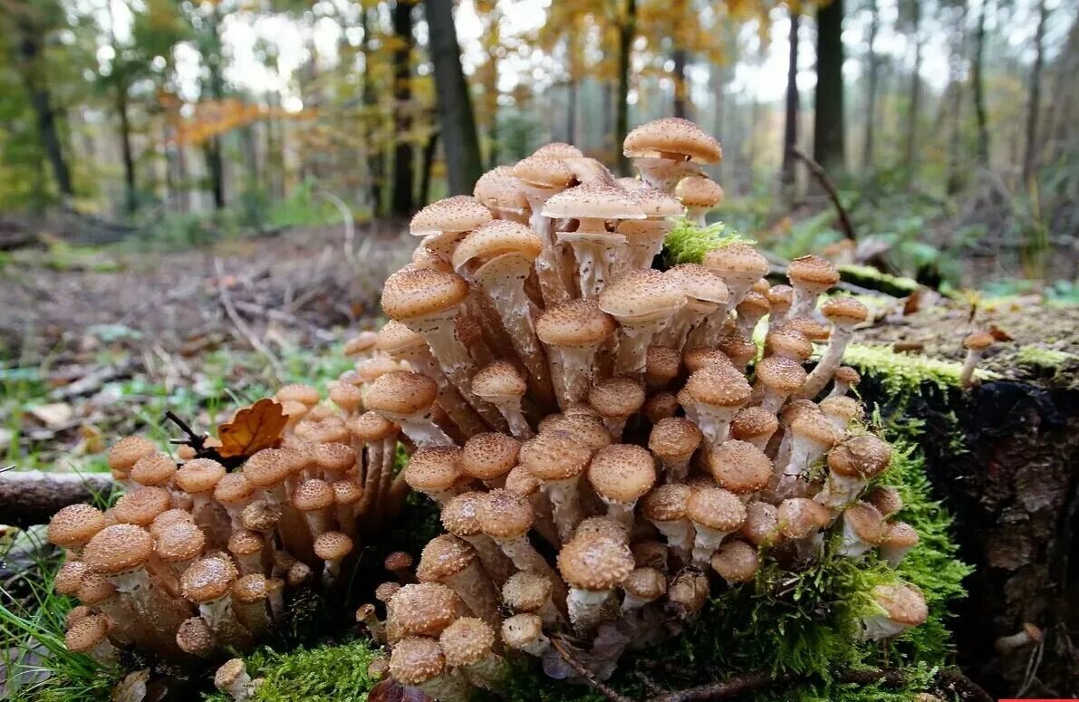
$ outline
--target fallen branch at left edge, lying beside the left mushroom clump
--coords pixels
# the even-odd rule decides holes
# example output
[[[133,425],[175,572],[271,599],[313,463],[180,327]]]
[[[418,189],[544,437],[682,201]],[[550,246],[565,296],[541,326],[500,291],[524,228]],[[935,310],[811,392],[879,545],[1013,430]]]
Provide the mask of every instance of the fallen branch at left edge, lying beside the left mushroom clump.
[[[0,470],[0,522],[19,527],[46,524],[60,508],[93,503],[114,486],[108,473]]]

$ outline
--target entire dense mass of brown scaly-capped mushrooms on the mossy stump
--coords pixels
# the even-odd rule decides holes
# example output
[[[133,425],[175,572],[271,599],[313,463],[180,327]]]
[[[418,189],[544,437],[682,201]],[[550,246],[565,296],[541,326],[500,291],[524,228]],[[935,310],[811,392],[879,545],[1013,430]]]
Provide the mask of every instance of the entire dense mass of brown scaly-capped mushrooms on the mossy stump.
[[[742,243],[651,267],[675,218],[702,224],[722,199],[700,168],[722,152],[681,119],[624,146],[639,178],[549,143],[415,215],[421,243],[382,293],[390,321],[347,344],[355,369],[328,402],[277,391],[278,446],[228,472],[186,446],[117,443],[126,493],[49,527],[69,556],[56,589],[82,603],[69,648],[246,650],[283,625],[291,592],[333,592],[409,491],[446,533],[414,572],[391,554],[395,579],[356,618],[391,651],[372,671],[446,702],[497,688],[506,656],[559,655],[556,636],[586,651],[604,630],[633,647],[674,635],[764,560],[797,569],[833,542],[896,566],[918,535],[875,480],[891,446],[841,366],[865,306],[824,294],[839,276],[816,256],[791,263],[789,286]],[[395,473],[398,444],[410,460]],[[898,577],[872,597],[865,639],[926,619]],[[215,683],[238,700],[257,682],[232,659]]]

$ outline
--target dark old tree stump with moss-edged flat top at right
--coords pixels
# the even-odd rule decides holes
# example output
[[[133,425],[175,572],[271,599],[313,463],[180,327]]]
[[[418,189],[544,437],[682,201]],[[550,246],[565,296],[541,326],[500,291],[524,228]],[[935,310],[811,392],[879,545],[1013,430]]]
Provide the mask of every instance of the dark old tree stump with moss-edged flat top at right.
[[[975,566],[953,621],[958,662],[996,697],[1079,696],[1079,312],[991,311],[1012,341],[958,385],[964,309],[937,308],[866,330],[851,349],[862,397],[894,423],[924,423],[935,496],[956,515],[960,558]],[[1070,331],[1069,331],[1070,330]],[[1062,338],[1063,335],[1063,338]],[[896,353],[896,344],[919,353]],[[995,643],[1038,627],[1007,653]]]

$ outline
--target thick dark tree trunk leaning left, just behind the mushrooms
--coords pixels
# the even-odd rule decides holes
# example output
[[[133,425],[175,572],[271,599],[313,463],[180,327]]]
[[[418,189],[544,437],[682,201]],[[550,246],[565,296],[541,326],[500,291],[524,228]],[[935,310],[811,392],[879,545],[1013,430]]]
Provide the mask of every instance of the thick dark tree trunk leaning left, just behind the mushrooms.
[[[424,0],[431,31],[431,60],[441,122],[442,151],[452,195],[466,194],[483,171],[468,83],[461,68],[461,45],[453,24],[453,0]]]

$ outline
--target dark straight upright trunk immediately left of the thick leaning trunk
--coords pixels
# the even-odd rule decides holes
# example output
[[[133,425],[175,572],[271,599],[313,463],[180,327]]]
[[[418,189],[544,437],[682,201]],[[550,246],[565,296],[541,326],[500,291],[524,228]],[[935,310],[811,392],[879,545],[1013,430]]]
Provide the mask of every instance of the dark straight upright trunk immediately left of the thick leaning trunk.
[[[412,0],[396,0],[393,11],[394,35],[397,49],[394,51],[394,194],[391,211],[398,217],[412,214]],[[428,23],[431,24],[431,23]],[[432,33],[436,31],[432,27]]]

